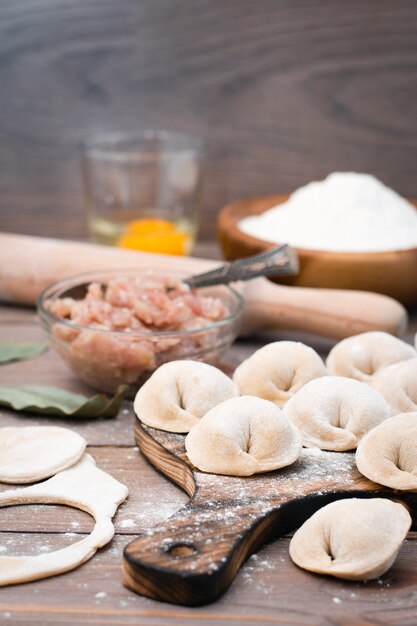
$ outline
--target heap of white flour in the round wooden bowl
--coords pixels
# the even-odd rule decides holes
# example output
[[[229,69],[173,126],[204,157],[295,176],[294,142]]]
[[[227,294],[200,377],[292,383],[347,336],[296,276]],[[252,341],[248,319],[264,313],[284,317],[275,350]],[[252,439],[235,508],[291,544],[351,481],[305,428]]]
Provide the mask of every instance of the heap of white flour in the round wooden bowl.
[[[417,247],[417,211],[374,176],[334,172],[297,189],[284,204],[247,217],[248,235],[298,248],[382,252]]]

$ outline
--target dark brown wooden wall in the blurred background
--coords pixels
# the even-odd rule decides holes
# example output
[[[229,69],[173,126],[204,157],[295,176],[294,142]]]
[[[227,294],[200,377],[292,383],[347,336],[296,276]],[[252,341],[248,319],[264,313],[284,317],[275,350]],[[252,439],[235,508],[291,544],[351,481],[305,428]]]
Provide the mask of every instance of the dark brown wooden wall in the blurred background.
[[[417,2],[0,0],[0,104],[1,230],[85,235],[77,144],[108,129],[209,138],[205,237],[335,169],[417,197]]]

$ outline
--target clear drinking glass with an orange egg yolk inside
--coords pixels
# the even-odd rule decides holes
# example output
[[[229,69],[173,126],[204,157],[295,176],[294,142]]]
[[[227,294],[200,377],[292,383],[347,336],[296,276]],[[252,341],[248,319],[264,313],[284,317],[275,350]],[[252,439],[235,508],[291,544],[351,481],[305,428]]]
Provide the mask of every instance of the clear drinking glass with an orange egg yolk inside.
[[[203,140],[184,133],[104,133],[84,142],[92,240],[189,254],[199,223],[203,156]]]

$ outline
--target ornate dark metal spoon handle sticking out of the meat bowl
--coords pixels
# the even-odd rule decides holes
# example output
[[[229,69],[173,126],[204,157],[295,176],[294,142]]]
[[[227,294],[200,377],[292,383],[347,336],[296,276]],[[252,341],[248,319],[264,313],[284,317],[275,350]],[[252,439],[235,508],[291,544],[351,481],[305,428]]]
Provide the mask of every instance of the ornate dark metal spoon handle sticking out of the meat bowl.
[[[238,280],[249,280],[258,276],[278,276],[297,274],[299,263],[297,253],[288,244],[282,244],[231,263],[225,263],[214,270],[196,274],[183,282],[190,287],[227,285]]]

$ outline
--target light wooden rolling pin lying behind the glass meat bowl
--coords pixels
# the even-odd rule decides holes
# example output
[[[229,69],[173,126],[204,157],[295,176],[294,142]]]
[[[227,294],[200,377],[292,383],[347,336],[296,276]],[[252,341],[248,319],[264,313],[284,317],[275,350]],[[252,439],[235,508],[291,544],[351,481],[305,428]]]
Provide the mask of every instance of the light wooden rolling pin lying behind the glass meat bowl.
[[[118,268],[155,268],[185,275],[217,261],[148,254],[59,239],[0,233],[0,300],[34,305],[51,283],[73,274]],[[400,335],[407,313],[396,300],[375,293],[286,287],[256,278],[241,283],[242,334],[287,329],[341,339],[368,331]]]

